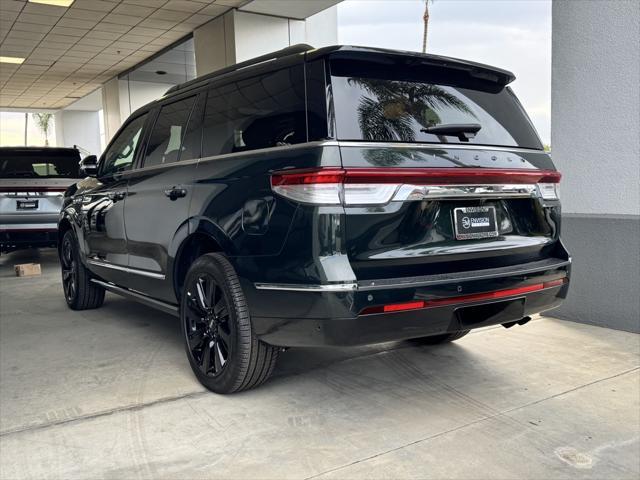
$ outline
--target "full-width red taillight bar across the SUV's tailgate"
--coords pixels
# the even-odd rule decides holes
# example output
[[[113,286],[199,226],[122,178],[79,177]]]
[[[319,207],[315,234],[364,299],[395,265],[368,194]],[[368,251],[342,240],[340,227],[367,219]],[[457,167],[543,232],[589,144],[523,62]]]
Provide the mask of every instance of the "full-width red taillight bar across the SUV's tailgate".
[[[514,168],[326,168],[292,170],[271,177],[271,184],[367,183],[411,185],[559,183],[555,170]]]

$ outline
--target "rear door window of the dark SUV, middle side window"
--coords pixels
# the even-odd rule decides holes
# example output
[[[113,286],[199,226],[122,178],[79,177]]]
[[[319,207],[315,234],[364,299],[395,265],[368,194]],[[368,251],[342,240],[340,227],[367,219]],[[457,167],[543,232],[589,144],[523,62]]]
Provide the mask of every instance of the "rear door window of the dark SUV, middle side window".
[[[147,142],[143,167],[177,162],[196,97],[164,105]]]

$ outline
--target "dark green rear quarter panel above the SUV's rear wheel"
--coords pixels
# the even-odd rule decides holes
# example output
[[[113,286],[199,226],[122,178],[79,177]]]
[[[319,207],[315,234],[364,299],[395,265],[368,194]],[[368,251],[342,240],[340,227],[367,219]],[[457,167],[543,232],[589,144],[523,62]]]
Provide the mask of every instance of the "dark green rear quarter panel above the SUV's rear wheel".
[[[302,145],[223,155],[198,163],[190,232],[215,238],[235,263],[281,252],[298,205],[271,190],[271,173],[339,167],[338,147]]]

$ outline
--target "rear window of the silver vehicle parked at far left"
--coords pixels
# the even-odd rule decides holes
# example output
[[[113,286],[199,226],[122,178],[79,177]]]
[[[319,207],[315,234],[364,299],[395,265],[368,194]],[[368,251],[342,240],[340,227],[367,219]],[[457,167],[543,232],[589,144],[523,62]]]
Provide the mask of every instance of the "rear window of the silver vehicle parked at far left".
[[[81,178],[74,150],[0,149],[0,178]]]

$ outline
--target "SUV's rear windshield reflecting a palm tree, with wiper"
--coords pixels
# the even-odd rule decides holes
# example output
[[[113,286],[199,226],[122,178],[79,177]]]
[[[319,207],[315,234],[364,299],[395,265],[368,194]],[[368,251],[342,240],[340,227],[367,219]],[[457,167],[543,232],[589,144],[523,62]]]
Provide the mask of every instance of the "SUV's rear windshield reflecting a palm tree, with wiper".
[[[442,82],[441,72],[438,82],[422,77],[332,75],[338,139],[542,148],[511,89],[463,88]]]

